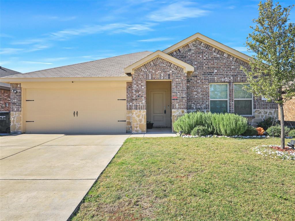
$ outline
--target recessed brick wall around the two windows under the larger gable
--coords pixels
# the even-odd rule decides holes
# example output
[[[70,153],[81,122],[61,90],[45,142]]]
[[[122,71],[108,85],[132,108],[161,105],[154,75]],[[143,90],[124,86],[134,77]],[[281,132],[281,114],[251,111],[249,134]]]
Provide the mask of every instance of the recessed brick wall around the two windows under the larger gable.
[[[209,83],[229,83],[229,111],[234,112],[233,84],[246,82],[246,75],[240,66],[250,69],[247,62],[199,40],[186,44],[169,55],[194,66],[194,72],[187,75],[188,112],[209,111]],[[276,115],[275,103],[255,98],[253,106],[254,113],[257,109],[263,111],[259,113],[259,118],[249,118],[249,122],[254,125],[267,117],[268,113]]]

